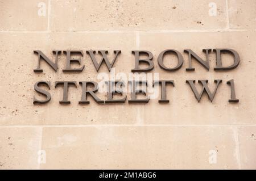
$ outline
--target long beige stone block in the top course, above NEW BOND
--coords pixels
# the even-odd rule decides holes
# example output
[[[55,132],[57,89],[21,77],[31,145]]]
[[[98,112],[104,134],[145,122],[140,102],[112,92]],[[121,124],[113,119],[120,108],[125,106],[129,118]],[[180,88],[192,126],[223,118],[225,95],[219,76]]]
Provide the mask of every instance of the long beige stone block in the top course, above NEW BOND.
[[[209,15],[210,2],[212,1],[51,1],[51,30],[162,31],[225,28],[226,2],[214,1],[216,16]]]

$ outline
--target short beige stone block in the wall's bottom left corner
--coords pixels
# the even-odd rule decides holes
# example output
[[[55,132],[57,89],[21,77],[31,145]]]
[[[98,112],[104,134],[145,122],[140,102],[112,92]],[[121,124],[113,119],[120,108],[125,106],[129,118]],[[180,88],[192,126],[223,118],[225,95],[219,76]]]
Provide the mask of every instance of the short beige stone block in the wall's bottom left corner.
[[[0,169],[39,169],[42,128],[0,128]]]

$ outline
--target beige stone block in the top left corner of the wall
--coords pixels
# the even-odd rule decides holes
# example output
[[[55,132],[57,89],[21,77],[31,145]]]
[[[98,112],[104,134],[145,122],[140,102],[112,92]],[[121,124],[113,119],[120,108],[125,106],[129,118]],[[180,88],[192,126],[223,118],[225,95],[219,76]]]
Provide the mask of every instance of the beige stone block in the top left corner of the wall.
[[[38,11],[46,6],[46,15],[40,16]],[[47,0],[1,0],[0,31],[46,31],[48,26]]]

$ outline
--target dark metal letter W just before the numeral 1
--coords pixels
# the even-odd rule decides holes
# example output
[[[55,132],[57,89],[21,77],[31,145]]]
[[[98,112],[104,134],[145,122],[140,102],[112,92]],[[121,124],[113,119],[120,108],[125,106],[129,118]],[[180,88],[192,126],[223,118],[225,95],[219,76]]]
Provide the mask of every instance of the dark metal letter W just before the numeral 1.
[[[220,79],[217,79],[217,80],[214,80],[215,83],[217,83],[213,93],[209,90],[209,87],[207,85],[208,83],[208,80],[199,80],[198,82],[201,83],[201,85],[203,85],[203,90],[201,91],[201,93],[199,94],[199,92],[197,91],[196,89],[196,86],[195,86],[195,83],[196,81],[195,80],[187,80],[186,83],[189,84],[189,86],[191,87],[191,90],[193,91],[193,93],[195,94],[195,97],[196,99],[198,100],[198,102],[200,102],[200,99],[203,95],[204,92],[207,93],[208,95],[208,99],[210,100],[210,102],[213,101],[213,98],[214,98],[214,95],[216,94],[216,91],[218,89],[218,85],[222,82],[222,80]]]

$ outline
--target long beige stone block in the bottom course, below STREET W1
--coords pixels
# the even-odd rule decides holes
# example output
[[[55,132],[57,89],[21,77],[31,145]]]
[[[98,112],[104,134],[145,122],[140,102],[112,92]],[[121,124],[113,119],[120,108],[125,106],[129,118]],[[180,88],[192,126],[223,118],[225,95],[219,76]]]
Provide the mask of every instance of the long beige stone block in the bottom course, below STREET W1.
[[[44,135],[40,169],[238,169],[232,128],[55,127]]]

